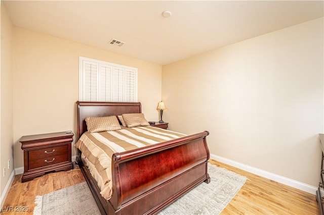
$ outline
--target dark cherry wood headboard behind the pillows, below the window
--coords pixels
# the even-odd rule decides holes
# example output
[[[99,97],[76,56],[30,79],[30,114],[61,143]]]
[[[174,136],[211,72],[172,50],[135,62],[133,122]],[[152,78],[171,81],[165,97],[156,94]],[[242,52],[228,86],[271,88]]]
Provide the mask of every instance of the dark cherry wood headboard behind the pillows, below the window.
[[[77,138],[87,131],[86,117],[142,113],[141,102],[76,101]]]

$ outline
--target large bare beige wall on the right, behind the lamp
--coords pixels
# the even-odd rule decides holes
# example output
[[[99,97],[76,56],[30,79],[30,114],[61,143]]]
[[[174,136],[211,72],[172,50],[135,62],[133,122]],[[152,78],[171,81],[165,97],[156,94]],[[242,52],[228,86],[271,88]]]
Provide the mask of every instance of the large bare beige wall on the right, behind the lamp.
[[[164,120],[212,154],[318,185],[323,18],[163,66]]]

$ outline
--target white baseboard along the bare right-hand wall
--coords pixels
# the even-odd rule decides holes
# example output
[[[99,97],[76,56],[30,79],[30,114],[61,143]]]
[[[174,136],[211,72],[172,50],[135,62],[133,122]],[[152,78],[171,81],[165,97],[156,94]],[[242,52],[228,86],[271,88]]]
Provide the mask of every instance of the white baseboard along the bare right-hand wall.
[[[255,175],[262,176],[264,178],[279,182],[281,184],[285,184],[290,187],[293,187],[293,188],[305,191],[307,193],[316,195],[317,187],[314,187],[314,186],[311,186],[311,185],[308,185],[308,184],[305,184],[305,183],[302,183],[299,181],[295,181],[293,179],[289,179],[289,178],[286,178],[283,176],[279,176],[279,175],[276,175],[273,173],[269,173],[264,170],[260,170],[260,169],[257,169],[257,168],[254,168],[254,167],[251,167],[251,166],[248,166],[245,164],[241,164],[241,163],[235,162],[233,160],[230,160],[230,159],[227,159],[227,158],[215,155],[215,154],[211,154],[211,158],[214,160],[217,160],[218,162],[222,162],[224,164],[230,165],[232,167],[236,167],[238,169],[253,173]]]

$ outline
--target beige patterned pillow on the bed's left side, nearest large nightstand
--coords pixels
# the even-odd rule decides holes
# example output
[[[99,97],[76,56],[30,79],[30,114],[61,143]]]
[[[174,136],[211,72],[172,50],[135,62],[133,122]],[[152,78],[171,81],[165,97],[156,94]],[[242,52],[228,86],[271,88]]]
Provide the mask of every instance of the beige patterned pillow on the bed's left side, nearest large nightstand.
[[[121,129],[116,116],[87,117],[87,128],[90,133],[101,131],[114,131]]]

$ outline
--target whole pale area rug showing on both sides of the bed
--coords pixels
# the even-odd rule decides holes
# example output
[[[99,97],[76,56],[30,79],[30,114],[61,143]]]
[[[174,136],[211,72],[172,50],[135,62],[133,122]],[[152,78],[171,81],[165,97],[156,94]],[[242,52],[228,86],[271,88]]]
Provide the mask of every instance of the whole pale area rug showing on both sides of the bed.
[[[247,178],[208,165],[211,183],[201,183],[159,212],[159,215],[219,214]],[[86,182],[43,196],[36,196],[34,214],[100,214]]]

